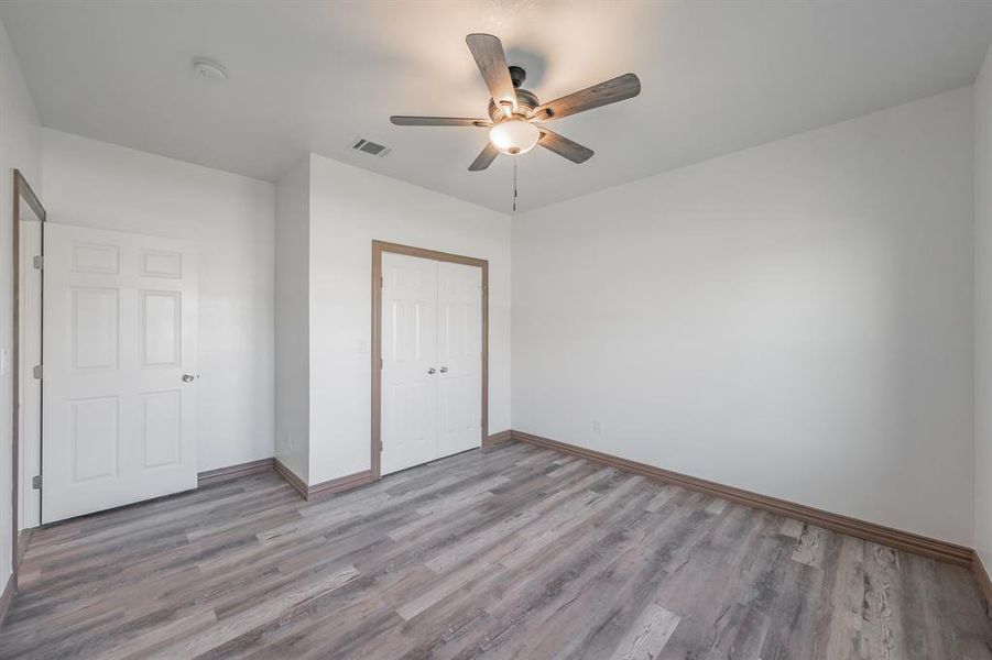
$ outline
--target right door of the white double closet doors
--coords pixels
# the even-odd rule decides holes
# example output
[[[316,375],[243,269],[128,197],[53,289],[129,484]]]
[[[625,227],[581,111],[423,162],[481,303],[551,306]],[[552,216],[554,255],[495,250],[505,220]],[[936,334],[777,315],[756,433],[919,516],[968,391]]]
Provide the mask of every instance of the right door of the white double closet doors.
[[[437,264],[437,443],[442,457],[482,441],[482,270]]]

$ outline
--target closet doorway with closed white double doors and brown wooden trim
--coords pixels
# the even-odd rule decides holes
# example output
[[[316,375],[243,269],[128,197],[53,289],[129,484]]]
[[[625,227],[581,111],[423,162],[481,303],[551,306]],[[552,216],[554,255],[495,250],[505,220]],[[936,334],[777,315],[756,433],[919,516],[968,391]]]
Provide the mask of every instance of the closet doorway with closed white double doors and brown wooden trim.
[[[372,477],[481,447],[484,260],[372,242]]]

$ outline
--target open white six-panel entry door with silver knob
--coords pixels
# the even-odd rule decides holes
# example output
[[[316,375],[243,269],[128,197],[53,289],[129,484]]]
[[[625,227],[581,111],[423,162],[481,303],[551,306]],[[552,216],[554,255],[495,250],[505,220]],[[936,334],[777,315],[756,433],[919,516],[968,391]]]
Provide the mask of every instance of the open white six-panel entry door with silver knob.
[[[42,521],[196,487],[193,245],[45,227]]]

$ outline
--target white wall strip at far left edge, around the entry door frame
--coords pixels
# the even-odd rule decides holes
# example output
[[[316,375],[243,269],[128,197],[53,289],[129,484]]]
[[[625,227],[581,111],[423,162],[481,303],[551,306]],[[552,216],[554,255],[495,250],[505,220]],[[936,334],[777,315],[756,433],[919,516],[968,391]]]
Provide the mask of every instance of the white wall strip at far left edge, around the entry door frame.
[[[17,57],[0,23],[0,349],[12,351],[13,268],[13,170],[20,169],[37,195],[42,195],[41,122],[28,92]],[[10,360],[13,360],[11,352]],[[11,437],[12,380],[0,374],[0,590],[11,573]]]

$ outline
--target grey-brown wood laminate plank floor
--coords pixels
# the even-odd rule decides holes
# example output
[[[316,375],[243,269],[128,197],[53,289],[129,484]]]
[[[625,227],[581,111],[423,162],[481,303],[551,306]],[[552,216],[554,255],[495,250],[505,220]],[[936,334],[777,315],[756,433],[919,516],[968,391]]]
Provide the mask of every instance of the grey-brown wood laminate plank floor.
[[[525,444],[37,530],[3,658],[992,658],[968,571]]]

